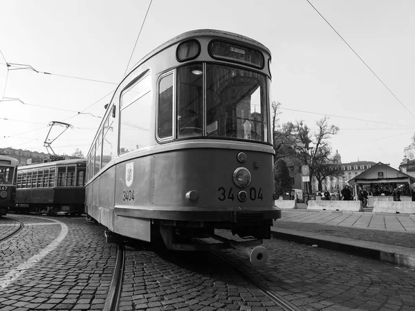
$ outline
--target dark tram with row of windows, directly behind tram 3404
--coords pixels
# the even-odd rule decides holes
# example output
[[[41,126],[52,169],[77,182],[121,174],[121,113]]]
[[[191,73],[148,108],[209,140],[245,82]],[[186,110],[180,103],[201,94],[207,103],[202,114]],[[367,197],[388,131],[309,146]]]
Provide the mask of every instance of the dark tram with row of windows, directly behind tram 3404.
[[[81,215],[86,159],[57,160],[17,168],[16,205],[10,211]]]

